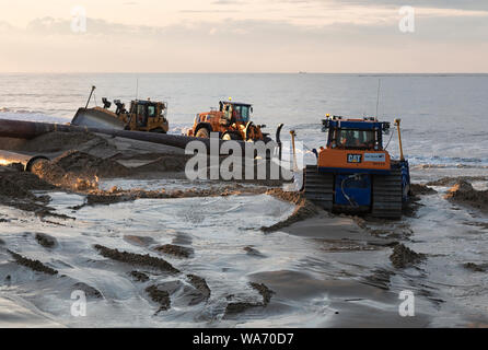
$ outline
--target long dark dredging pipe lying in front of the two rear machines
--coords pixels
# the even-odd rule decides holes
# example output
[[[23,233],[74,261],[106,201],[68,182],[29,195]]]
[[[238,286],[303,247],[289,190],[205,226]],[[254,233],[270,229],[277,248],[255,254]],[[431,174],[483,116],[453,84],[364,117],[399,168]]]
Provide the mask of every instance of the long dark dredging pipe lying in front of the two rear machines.
[[[201,141],[207,147],[207,152],[210,152],[210,139],[201,139],[194,138],[187,136],[178,136],[178,135],[167,135],[167,133],[154,133],[147,131],[128,131],[128,130],[115,130],[115,129],[102,129],[102,128],[88,128],[88,127],[79,127],[72,125],[63,125],[63,124],[49,124],[49,122],[35,122],[35,121],[22,121],[22,120],[10,120],[2,119],[0,120],[0,137],[7,138],[18,138],[18,139],[33,139],[40,135],[53,132],[53,131],[62,131],[62,132],[95,132],[103,133],[114,137],[120,137],[126,139],[147,141],[152,143],[161,143],[166,145],[172,145],[181,149],[185,149],[186,145],[195,140]],[[219,150],[220,145],[226,141],[219,140]],[[243,151],[247,142],[237,141]]]

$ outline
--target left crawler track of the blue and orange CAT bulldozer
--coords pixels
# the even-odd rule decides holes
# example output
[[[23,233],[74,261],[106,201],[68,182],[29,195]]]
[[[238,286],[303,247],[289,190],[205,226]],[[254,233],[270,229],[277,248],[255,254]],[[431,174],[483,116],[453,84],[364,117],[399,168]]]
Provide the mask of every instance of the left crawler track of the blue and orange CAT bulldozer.
[[[316,165],[306,165],[303,180],[305,198],[325,210],[333,210],[334,174],[323,174]]]

